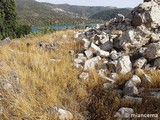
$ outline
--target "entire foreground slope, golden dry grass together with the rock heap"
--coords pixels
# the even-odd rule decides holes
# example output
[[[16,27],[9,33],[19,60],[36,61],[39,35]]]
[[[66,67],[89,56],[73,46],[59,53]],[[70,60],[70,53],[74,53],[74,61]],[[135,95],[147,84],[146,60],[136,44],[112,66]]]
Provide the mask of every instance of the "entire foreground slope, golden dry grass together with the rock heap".
[[[145,2],[131,19],[0,41],[0,119],[159,119],[159,11]]]

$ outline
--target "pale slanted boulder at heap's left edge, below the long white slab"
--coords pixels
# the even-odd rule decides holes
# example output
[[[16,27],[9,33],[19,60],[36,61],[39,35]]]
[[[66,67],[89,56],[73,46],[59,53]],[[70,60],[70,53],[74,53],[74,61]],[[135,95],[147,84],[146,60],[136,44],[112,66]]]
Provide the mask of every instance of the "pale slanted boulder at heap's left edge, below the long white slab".
[[[99,56],[93,57],[89,60],[87,60],[84,64],[84,70],[90,70],[95,68],[95,64],[97,64],[101,58]]]

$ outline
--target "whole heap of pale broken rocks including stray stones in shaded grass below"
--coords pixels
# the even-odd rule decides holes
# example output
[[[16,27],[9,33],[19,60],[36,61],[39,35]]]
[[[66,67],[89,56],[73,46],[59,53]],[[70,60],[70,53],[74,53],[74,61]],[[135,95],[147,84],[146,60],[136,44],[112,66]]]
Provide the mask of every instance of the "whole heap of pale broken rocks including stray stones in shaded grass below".
[[[79,61],[76,64],[83,71],[81,79],[89,80],[87,71],[95,69],[107,80],[104,89],[114,89],[116,76],[130,73],[131,78],[120,91],[124,99],[141,104],[143,83],[152,83],[143,69],[160,70],[160,7],[155,1],[145,1],[131,15],[129,19],[119,14],[103,25],[77,33],[75,36],[80,36],[78,40],[84,45],[80,52],[83,58],[77,55],[74,61]],[[139,76],[138,70],[143,71]],[[150,96],[159,98],[159,93]],[[128,118],[133,112],[132,108],[120,108],[115,117]]]

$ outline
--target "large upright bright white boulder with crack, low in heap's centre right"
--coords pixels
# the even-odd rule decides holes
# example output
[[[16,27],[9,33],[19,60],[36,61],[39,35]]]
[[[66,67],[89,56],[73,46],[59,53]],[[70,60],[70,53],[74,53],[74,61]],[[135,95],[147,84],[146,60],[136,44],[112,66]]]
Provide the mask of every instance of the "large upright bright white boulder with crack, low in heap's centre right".
[[[129,56],[122,56],[118,59],[116,71],[117,73],[126,74],[132,70],[132,63]]]

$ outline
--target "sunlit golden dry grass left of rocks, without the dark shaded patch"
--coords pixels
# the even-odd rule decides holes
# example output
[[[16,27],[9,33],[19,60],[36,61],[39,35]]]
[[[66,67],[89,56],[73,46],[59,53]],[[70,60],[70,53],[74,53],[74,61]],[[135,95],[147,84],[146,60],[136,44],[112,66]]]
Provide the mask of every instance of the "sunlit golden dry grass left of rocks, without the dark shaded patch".
[[[67,35],[66,39],[62,37],[64,34]],[[37,47],[39,41],[61,41],[65,44],[56,50],[47,51]],[[90,85],[78,80],[80,71],[73,67],[69,50],[78,51],[80,48],[81,44],[74,42],[71,30],[14,40],[9,45],[0,46],[0,61],[6,62],[17,72],[23,89],[23,93],[16,96],[14,110],[9,110],[12,113],[6,111],[3,119],[53,119],[52,115],[46,114],[52,106],[67,108],[72,113],[80,112],[79,102],[87,97],[88,89],[98,84],[96,76],[92,77]],[[52,58],[61,61],[53,62],[50,60]],[[7,72],[7,67],[3,68],[0,74],[4,72]],[[82,116],[75,113],[74,119],[82,119]]]

